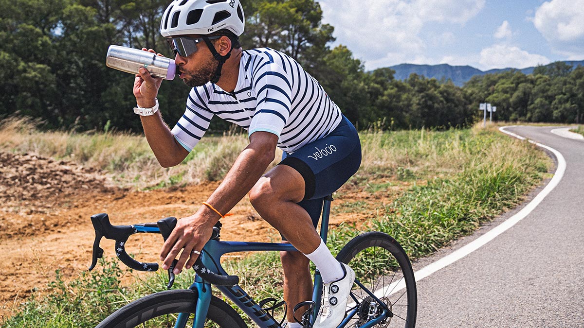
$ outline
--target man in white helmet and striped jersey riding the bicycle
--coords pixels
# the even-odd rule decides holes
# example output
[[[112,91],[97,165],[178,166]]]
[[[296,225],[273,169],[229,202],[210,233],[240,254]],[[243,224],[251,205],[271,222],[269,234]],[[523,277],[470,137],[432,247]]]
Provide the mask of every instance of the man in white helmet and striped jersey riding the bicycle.
[[[193,266],[213,225],[246,193],[256,211],[301,253],[282,252],[284,299],[311,298],[309,259],[324,281],[315,327],[336,327],[345,314],[353,270],[332,256],[315,227],[325,196],[359,168],[357,131],[322,86],[293,58],[270,48],[242,50],[245,18],[239,0],[175,0],[163,14],[179,77],[192,87],[185,114],[170,130],[158,111],[161,79],[141,69],[134,82],[148,143],[162,166],[178,165],[217,115],[249,131],[249,145],[206,202],[178,221],[161,251],[163,268]],[[143,48],[142,50],[146,50]],[[154,52],[154,50],[148,50]],[[269,172],[276,147],[283,160]],[[293,313],[288,327],[300,327]]]

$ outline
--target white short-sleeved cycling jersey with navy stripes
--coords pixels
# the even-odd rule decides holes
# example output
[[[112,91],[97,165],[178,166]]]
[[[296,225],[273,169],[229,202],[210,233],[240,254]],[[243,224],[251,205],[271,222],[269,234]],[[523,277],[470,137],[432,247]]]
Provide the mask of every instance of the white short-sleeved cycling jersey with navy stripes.
[[[243,51],[234,92],[214,83],[193,88],[172,134],[191,151],[217,115],[251,135],[266,131],[291,153],[325,137],[340,123],[339,107],[293,58],[270,48]]]

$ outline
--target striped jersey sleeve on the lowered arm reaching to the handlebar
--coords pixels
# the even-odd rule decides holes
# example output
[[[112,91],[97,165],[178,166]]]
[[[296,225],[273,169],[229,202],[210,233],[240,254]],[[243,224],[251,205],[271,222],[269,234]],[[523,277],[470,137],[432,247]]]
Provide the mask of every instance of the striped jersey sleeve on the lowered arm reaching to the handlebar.
[[[253,68],[251,83],[257,95],[257,106],[249,125],[249,134],[266,131],[280,137],[290,117],[290,75],[267,55]]]

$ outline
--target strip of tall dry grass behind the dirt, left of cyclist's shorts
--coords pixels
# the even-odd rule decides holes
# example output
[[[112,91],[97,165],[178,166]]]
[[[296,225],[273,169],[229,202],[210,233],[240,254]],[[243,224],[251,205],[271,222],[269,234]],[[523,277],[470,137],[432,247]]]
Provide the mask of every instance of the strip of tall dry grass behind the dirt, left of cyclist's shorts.
[[[71,160],[103,170],[117,186],[137,189],[220,180],[248,145],[245,134],[206,136],[180,165],[165,169],[158,164],[144,135],[39,131],[37,124],[22,117],[0,121],[0,151]],[[278,151],[272,165],[280,158]]]

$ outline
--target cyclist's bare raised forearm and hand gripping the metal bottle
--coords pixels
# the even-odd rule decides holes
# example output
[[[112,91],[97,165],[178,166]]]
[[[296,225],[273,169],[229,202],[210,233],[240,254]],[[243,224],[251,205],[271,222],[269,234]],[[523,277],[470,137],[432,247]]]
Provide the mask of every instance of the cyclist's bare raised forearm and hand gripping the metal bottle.
[[[142,50],[146,49],[142,48]],[[154,53],[154,50],[150,50],[150,52]],[[154,106],[161,83],[161,78],[153,78],[146,69],[140,69],[140,73],[136,75],[134,80],[133,89],[138,107],[150,108]],[[162,120],[160,111],[151,116],[140,117],[148,144],[150,144],[150,148],[152,148],[160,165],[165,168],[179,165],[189,155],[189,151],[176,141],[171,130]]]

